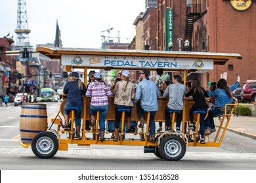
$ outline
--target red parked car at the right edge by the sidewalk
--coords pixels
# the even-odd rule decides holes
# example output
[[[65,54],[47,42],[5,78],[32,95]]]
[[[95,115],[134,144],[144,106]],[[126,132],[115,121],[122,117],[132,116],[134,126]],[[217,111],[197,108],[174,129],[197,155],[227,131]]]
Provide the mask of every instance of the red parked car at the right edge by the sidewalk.
[[[256,97],[256,80],[247,80],[244,83],[241,99],[242,101],[254,102]]]

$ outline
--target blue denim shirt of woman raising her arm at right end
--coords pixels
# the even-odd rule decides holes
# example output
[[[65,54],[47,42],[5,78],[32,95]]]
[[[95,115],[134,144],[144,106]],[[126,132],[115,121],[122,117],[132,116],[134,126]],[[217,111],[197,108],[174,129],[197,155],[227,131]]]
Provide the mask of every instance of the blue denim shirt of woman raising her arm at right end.
[[[233,90],[236,90],[238,88],[239,82],[236,81],[236,83],[232,86],[229,86],[230,93]],[[209,90],[206,91],[209,97],[215,97],[215,108],[217,107],[225,107],[227,103],[233,103],[232,97],[228,97],[228,94],[226,94],[225,90],[217,88],[213,92],[210,92]]]

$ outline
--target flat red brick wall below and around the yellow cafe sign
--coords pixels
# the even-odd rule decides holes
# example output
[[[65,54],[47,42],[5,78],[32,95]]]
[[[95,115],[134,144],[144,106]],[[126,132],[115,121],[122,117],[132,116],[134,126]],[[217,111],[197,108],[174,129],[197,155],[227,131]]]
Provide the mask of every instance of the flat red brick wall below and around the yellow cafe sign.
[[[215,66],[210,80],[219,80],[221,73],[228,73],[228,83],[236,80],[236,73],[245,80],[256,79],[256,3],[252,2],[247,10],[239,11],[229,1],[209,1],[209,10],[204,17],[209,34],[209,52],[241,54],[243,59],[230,59],[225,65]],[[228,70],[233,65],[233,71]]]

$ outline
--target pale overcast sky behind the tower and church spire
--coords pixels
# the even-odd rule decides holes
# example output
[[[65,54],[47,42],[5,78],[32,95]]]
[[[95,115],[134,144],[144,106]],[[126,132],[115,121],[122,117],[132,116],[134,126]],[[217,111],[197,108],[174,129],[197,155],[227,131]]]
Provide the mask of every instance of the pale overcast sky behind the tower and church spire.
[[[0,37],[10,32],[15,42],[17,7],[18,0],[0,0]],[[133,22],[145,11],[145,0],[26,0],[26,8],[34,48],[54,42],[57,19],[63,47],[100,48],[101,35],[118,37],[118,31],[121,42],[131,42]],[[110,27],[110,33],[100,33]]]

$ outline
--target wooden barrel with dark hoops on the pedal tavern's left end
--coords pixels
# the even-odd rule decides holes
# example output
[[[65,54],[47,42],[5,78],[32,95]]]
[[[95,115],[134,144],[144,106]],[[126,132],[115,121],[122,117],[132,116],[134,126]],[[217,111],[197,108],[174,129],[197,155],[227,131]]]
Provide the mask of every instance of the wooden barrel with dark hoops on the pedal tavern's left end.
[[[33,137],[47,130],[47,110],[43,103],[23,103],[20,114],[20,139],[31,144]]]

